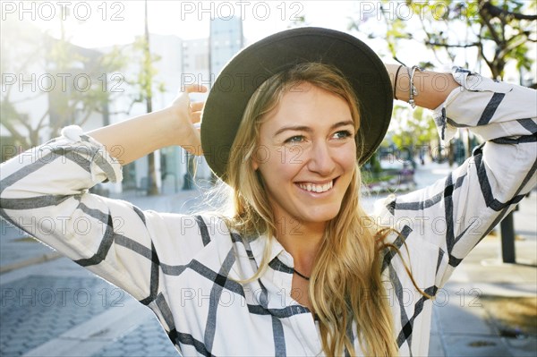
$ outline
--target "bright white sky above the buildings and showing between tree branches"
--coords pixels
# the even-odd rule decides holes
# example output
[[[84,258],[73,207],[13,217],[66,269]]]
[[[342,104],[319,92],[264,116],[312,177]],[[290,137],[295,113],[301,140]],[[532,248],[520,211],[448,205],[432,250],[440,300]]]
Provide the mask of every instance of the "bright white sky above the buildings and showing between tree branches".
[[[55,37],[59,37],[60,28],[63,27],[68,34],[67,39],[81,47],[99,48],[132,43],[134,38],[144,31],[144,0],[2,0],[0,4],[3,21],[31,21],[34,26]],[[211,17],[229,19],[236,16],[243,19],[243,35],[248,44],[277,31],[286,30],[294,21],[303,17],[307,25],[347,32],[354,20],[359,21],[362,32],[353,30],[350,33],[366,42],[383,60],[393,62],[388,56],[386,42],[382,38],[367,38],[365,32],[371,29],[384,30],[385,21],[390,16],[410,19],[419,14],[409,13],[405,2],[391,2],[385,4],[388,14],[382,17],[379,4],[379,0],[148,0],[149,32],[175,35],[183,39],[208,38]],[[464,33],[465,30],[450,31]],[[416,39],[420,32],[415,32]],[[454,35],[456,36],[458,35]],[[426,58],[434,62],[434,58],[431,58],[431,54],[424,48],[415,44],[412,47],[403,46],[397,54],[403,62],[413,64]],[[464,65],[466,57],[475,58],[475,54],[470,51],[471,49],[458,51],[455,64]],[[534,56],[533,51],[532,57]],[[437,66],[437,69],[447,71],[451,65],[443,63]],[[470,66],[472,67],[472,64]],[[487,72],[482,73],[487,75]]]

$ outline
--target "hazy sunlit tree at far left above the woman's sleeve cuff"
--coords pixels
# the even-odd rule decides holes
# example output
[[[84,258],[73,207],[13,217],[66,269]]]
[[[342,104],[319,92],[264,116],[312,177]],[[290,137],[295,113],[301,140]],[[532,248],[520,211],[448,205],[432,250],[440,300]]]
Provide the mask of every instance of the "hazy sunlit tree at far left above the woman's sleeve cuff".
[[[109,74],[124,66],[119,51],[101,54],[72,45],[61,19],[60,38],[12,19],[3,21],[0,104],[13,143],[29,149],[65,125],[82,125],[95,113],[106,117],[115,94]]]

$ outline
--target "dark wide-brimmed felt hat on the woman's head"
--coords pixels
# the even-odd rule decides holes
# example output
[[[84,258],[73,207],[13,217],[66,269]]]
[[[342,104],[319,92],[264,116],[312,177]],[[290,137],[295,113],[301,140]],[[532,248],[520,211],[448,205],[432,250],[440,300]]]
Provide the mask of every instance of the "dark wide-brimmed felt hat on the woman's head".
[[[263,81],[295,64],[331,64],[343,73],[360,102],[356,140],[363,164],[379,147],[390,121],[393,91],[384,64],[358,38],[337,30],[285,30],[244,48],[226,64],[209,92],[201,121],[201,147],[210,168],[226,181],[235,133],[253,92]],[[362,138],[362,139],[361,139]]]

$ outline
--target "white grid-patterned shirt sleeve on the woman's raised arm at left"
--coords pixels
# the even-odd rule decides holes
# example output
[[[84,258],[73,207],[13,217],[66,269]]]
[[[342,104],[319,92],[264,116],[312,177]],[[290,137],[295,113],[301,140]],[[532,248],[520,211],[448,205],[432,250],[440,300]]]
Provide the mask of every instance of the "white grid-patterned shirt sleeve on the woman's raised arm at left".
[[[89,192],[122,169],[79,127],[1,167],[0,214],[13,225],[149,304],[164,290],[162,269],[188,264],[208,242],[201,217],[142,211]]]

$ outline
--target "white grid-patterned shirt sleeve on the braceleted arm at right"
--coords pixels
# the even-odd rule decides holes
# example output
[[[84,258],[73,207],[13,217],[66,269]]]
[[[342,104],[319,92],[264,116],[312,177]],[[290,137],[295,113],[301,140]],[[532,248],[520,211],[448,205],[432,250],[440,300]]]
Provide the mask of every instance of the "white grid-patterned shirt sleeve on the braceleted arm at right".
[[[408,237],[411,264],[434,265],[437,287],[536,183],[537,92],[458,67],[453,76],[461,87],[433,113],[440,137],[468,128],[484,143],[445,179],[377,206],[381,225],[404,232],[396,241]]]

